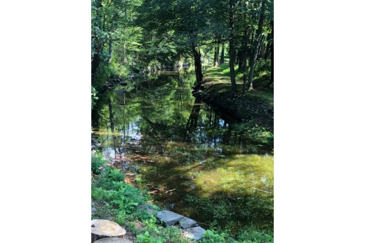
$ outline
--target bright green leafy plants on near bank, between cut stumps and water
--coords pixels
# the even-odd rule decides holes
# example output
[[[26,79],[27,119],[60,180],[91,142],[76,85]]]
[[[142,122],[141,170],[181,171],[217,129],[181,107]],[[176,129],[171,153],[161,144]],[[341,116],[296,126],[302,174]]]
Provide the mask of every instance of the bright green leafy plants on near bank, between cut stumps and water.
[[[150,200],[150,195],[124,182],[124,174],[117,169],[106,167],[104,172],[94,177],[91,197],[97,206],[96,218],[106,218],[125,226],[137,235],[137,242],[182,242],[189,241],[182,237],[177,227],[164,228],[155,216],[139,209],[138,206]],[[152,205],[151,205],[152,206]],[[153,207],[155,210],[158,207]],[[142,227],[136,227],[139,222]]]

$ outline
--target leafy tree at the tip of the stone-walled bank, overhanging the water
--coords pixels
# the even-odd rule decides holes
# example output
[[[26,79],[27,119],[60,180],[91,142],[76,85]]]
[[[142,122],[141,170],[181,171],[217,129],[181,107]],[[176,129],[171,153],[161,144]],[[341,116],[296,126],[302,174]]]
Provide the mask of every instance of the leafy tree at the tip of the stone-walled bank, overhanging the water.
[[[141,8],[138,24],[156,31],[194,60],[197,84],[203,81],[200,47],[211,43],[216,33],[208,1],[151,0]],[[214,29],[211,28],[214,26]]]

